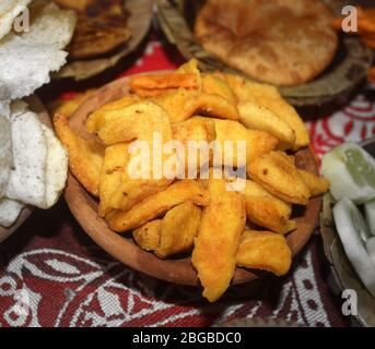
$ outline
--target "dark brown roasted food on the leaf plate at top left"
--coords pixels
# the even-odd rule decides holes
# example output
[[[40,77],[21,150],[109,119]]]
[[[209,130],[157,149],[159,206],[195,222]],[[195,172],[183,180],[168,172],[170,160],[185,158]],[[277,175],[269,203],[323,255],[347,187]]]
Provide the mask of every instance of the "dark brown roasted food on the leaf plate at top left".
[[[121,0],[54,0],[75,10],[78,24],[69,53],[73,59],[87,59],[112,52],[131,37],[127,26],[129,14]]]

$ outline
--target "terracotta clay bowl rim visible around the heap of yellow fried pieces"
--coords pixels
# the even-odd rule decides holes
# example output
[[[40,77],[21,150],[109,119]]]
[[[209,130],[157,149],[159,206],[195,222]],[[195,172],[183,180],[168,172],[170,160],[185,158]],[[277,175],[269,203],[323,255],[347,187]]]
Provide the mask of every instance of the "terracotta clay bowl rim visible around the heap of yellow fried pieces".
[[[98,107],[129,95],[129,77],[122,77],[105,85],[86,99],[71,116],[70,124],[81,136],[90,137],[85,131],[84,122],[87,116]],[[312,172],[317,172],[314,155],[308,148],[296,154],[297,166]],[[66,200],[70,210],[83,230],[107,253],[124,264],[171,282],[198,286],[197,274],[191,266],[190,258],[162,261],[154,254],[137,246],[130,233],[119,234],[112,231],[105,220],[97,216],[97,201],[70,173],[66,189]],[[317,226],[321,207],[321,198],[310,200],[307,207],[297,217],[297,229],[288,236],[293,255],[297,254],[306,244]],[[243,284],[256,279],[258,276],[250,270],[237,268],[233,284]]]

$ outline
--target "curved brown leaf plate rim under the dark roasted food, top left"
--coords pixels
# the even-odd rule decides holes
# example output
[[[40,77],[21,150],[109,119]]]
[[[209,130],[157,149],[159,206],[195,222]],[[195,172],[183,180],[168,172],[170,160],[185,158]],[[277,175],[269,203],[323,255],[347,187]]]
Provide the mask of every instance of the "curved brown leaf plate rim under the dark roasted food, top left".
[[[131,31],[130,40],[110,56],[68,62],[54,77],[71,77],[80,81],[115,67],[121,59],[134,51],[148,34],[153,15],[153,0],[125,0],[124,7],[130,13],[128,19],[128,26]]]

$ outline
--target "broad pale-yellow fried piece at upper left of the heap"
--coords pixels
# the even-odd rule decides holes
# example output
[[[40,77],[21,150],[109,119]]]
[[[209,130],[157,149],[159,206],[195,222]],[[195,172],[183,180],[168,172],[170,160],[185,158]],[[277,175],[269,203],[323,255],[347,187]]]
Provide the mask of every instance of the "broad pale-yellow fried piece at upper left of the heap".
[[[95,116],[93,117],[95,119]],[[101,122],[91,117],[87,130],[97,133],[105,145],[113,145],[134,140],[152,142],[154,132],[163,141],[172,139],[171,122],[166,112],[152,101],[140,101],[121,109],[107,110]]]

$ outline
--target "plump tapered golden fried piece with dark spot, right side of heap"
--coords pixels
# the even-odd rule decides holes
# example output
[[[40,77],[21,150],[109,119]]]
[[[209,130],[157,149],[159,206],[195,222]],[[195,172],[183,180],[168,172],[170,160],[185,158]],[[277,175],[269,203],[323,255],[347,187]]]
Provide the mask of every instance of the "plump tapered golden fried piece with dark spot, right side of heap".
[[[248,165],[247,171],[274,196],[292,204],[308,204],[312,194],[285,153],[271,152],[258,157]]]

